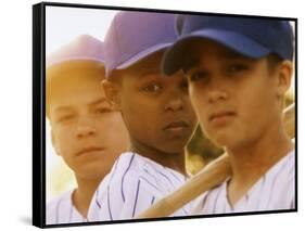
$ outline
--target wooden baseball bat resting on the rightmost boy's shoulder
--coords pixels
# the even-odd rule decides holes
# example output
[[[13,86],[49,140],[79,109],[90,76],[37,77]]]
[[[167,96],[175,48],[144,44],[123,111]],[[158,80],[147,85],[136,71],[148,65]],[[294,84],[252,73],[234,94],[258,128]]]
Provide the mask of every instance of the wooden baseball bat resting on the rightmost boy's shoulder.
[[[290,138],[295,137],[295,105],[283,111],[284,128]],[[150,208],[137,216],[143,218],[168,217],[202,193],[217,187],[231,174],[228,154],[224,154],[204,167],[199,174],[188,180],[182,187],[161,198]]]

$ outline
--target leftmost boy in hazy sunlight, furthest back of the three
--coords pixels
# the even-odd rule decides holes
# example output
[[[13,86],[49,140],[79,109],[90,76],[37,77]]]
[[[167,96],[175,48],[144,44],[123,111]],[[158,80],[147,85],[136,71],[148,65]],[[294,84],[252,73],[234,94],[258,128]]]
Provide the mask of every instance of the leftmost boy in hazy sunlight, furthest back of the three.
[[[77,188],[47,205],[47,224],[87,221],[91,197],[129,144],[120,113],[101,86],[102,42],[84,35],[47,59],[46,102],[52,144],[74,171]]]

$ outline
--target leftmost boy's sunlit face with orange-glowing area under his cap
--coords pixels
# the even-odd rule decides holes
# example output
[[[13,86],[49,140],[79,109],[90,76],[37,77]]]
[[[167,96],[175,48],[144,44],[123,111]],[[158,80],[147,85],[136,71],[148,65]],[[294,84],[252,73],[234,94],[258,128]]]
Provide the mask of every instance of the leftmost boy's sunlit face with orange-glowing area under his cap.
[[[100,178],[128,145],[122,116],[105,100],[103,70],[84,62],[52,72],[58,75],[49,88],[55,151],[77,176]]]

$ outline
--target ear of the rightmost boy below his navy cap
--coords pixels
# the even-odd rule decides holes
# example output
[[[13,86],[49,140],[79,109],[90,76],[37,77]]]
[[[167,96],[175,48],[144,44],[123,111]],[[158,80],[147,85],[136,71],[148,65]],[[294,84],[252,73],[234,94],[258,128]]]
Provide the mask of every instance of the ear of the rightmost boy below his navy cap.
[[[291,85],[293,65],[291,61],[283,61],[278,72],[278,90],[277,95],[283,97]]]

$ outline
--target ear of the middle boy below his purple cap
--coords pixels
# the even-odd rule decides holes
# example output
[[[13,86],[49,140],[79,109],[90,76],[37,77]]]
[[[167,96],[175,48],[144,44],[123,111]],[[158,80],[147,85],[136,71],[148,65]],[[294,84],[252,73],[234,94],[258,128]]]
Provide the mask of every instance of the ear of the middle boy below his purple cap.
[[[119,86],[116,82],[102,80],[102,86],[112,110],[120,110]]]

